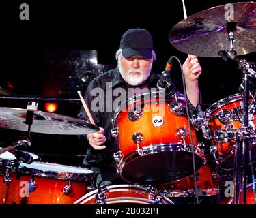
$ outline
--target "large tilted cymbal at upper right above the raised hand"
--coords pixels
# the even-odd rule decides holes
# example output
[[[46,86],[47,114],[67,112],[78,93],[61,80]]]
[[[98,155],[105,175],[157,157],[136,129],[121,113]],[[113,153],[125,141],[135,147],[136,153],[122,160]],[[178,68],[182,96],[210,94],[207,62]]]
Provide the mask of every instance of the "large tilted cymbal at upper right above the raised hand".
[[[256,2],[233,3],[236,22],[233,49],[237,55],[256,51]],[[212,7],[180,21],[169,32],[169,42],[186,54],[220,57],[219,50],[230,50],[226,24],[232,18],[225,5]]]

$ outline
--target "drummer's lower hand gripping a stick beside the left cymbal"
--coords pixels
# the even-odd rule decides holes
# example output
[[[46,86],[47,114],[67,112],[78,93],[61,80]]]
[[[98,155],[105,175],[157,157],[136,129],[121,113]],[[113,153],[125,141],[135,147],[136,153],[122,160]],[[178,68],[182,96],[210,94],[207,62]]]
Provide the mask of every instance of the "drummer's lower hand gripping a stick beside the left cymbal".
[[[102,150],[106,149],[106,146],[104,145],[104,142],[106,142],[106,136],[104,136],[104,129],[100,127],[100,130],[94,134],[87,134],[86,138],[89,142],[89,144],[95,149],[95,150]]]

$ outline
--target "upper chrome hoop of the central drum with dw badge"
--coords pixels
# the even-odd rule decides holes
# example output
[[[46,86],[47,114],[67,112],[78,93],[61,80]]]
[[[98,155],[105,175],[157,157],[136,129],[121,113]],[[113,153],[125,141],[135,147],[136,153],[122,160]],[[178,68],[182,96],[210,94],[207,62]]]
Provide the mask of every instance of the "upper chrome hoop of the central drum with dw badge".
[[[146,100],[149,99],[150,96],[154,95],[154,98],[157,98],[160,96],[160,91],[154,91],[151,93],[143,93],[141,95],[135,95],[134,97],[130,97],[126,100],[125,104],[122,104],[121,106],[119,106],[114,113],[114,122],[115,122],[115,126],[117,126],[117,117],[119,116],[119,113],[122,112],[122,110],[126,109],[126,107],[131,104],[131,102],[137,103],[137,102],[141,102],[142,100]],[[146,96],[146,97],[145,97]],[[141,97],[141,98],[139,98]],[[183,95],[178,94],[178,93],[174,93],[173,95],[169,95],[169,94],[165,94],[165,102],[169,102],[169,99],[173,98],[173,99],[179,99],[182,102],[186,102],[185,98]],[[136,99],[136,101],[134,101],[134,99]],[[156,101],[159,102],[159,101]]]

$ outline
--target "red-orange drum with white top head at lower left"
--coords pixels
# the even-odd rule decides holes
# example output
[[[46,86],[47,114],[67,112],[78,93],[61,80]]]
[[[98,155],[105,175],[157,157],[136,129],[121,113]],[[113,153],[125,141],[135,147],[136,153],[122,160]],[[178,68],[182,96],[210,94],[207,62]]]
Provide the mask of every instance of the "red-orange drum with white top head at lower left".
[[[72,204],[87,193],[94,172],[55,163],[20,163],[13,170],[5,204]]]

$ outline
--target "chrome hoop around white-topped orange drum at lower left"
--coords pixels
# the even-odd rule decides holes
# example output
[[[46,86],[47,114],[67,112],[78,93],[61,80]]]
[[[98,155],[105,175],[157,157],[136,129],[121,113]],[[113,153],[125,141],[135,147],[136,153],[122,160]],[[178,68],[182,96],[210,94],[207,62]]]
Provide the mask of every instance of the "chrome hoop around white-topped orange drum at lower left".
[[[36,162],[35,162],[36,163]],[[42,162],[38,162],[42,163]],[[44,163],[46,165],[54,165],[54,163]],[[57,164],[59,165],[59,164]],[[66,165],[61,165],[66,166]],[[66,166],[70,167],[70,166]],[[79,167],[76,167],[79,168]],[[80,168],[83,169],[83,168]],[[87,170],[87,169],[85,169]],[[90,170],[91,171],[91,170]],[[15,172],[15,171],[14,171]],[[59,171],[51,171],[51,170],[42,170],[42,169],[36,169],[36,168],[29,168],[29,165],[22,166],[18,169],[18,173],[26,174],[29,176],[38,176],[41,178],[53,178],[53,179],[60,179],[60,180],[74,180],[74,181],[89,181],[93,176],[94,172],[59,172]]]

